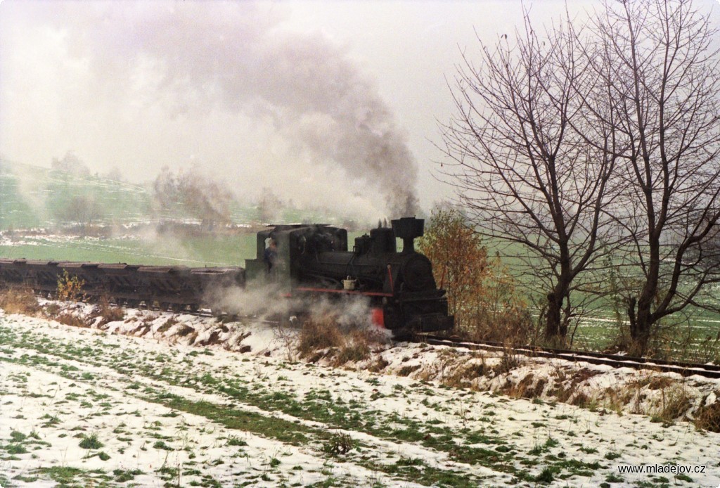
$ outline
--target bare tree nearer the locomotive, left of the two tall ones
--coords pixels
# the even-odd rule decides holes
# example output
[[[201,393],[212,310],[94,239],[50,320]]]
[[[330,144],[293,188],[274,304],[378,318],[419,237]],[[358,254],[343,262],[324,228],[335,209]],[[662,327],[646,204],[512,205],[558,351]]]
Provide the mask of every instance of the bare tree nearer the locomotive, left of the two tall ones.
[[[616,242],[603,207],[611,199],[611,152],[585,143],[582,112],[595,78],[571,22],[539,37],[528,14],[514,39],[480,41],[481,63],[463,55],[445,125],[444,174],[479,232],[520,245],[539,279],[545,335],[564,340],[590,286],[583,274]],[[609,155],[609,156],[608,156]],[[580,294],[580,297],[587,297]]]

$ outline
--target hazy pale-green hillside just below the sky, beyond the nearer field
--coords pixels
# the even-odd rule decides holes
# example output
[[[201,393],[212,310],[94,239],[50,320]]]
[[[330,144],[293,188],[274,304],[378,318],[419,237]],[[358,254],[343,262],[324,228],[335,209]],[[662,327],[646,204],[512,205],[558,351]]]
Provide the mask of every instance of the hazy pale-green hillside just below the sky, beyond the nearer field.
[[[148,186],[0,160],[0,231],[55,227],[68,220],[71,205],[92,202],[93,224],[122,225],[162,219],[184,219],[181,212],[158,215]],[[77,212],[81,209],[77,209]],[[257,207],[235,202],[235,224],[261,222]],[[338,222],[320,210],[277,209],[273,223]]]

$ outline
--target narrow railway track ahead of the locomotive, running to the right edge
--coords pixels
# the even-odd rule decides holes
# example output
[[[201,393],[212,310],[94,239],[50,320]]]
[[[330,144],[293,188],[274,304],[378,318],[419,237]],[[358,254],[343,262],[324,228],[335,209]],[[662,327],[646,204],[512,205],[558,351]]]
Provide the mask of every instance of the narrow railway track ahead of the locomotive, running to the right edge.
[[[508,351],[508,346],[502,343],[462,340],[459,338],[445,338],[439,335],[423,334],[415,338],[416,342],[425,342],[432,345],[449,345],[454,348],[467,348],[483,351]],[[668,373],[678,373],[681,376],[704,376],[706,378],[720,378],[720,366],[714,364],[684,363],[680,361],[663,361],[662,359],[635,358],[632,356],[619,356],[618,354],[603,354],[593,351],[570,351],[567,349],[541,348],[531,345],[521,345],[509,348],[513,353],[538,358],[556,358],[572,362],[584,361],[591,364],[605,364],[613,368],[651,369]]]

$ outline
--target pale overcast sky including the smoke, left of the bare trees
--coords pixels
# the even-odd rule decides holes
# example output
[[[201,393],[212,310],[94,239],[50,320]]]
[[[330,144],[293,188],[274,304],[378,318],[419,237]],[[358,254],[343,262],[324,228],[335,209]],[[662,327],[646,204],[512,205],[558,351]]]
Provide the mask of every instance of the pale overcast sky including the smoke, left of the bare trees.
[[[542,24],[564,1],[526,6]],[[492,44],[521,22],[515,0],[4,0],[0,155],[50,166],[72,150],[130,181],[195,166],[250,197],[429,209],[451,196],[433,177],[446,80],[476,32]]]

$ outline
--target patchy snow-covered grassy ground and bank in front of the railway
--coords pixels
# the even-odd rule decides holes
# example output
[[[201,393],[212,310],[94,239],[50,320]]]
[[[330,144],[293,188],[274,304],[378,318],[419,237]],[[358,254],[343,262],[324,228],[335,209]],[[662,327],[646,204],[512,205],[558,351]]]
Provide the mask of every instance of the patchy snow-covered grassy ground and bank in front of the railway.
[[[716,380],[421,344],[333,368],[267,324],[92,325],[0,311],[2,487],[720,484],[720,434],[657,410],[693,415]],[[691,471],[618,472],[663,464]]]

